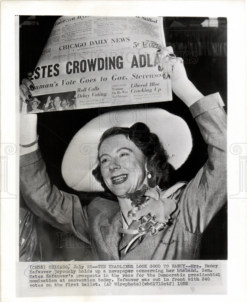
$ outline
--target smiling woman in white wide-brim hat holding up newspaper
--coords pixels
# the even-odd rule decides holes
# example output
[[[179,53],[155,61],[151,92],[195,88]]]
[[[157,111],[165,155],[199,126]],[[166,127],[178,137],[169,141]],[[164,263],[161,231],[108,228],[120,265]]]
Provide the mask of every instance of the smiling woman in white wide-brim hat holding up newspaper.
[[[200,259],[203,233],[226,204],[224,103],[219,93],[204,96],[193,85],[172,47],[159,49],[157,56],[157,72],[164,81],[171,79],[172,91],[181,100],[177,106],[187,107],[208,146],[206,163],[189,182],[173,179],[192,149],[187,123],[155,104],[145,109],[125,106],[88,117],[67,147],[64,181],[76,191],[96,192],[88,205],[82,205],[75,192],[52,184],[38,145],[37,115],[20,115],[24,201],[51,226],[79,238],[86,259]],[[24,113],[34,87],[30,79],[22,80]],[[81,110],[83,117],[87,109]]]

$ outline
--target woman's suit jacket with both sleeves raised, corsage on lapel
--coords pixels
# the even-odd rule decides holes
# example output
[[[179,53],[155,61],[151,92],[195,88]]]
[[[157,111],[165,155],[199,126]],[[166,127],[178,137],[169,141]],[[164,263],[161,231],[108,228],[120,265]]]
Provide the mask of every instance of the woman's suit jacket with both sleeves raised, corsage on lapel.
[[[71,232],[91,247],[93,260],[198,259],[203,231],[226,202],[226,114],[219,94],[190,107],[205,142],[209,159],[190,183],[175,188],[177,204],[171,222],[155,236],[148,233],[124,250],[135,236],[122,236],[119,203],[95,198],[82,207],[76,195],[51,186],[39,150],[20,157],[20,187],[30,209],[52,226]],[[172,190],[172,191],[174,191]],[[136,230],[133,221],[129,229]]]

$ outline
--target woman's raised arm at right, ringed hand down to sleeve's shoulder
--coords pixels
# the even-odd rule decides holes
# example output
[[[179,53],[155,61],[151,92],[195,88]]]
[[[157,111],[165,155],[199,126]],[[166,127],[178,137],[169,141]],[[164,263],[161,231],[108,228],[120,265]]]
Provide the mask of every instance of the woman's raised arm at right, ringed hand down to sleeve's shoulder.
[[[164,78],[172,73],[173,92],[190,108],[208,145],[208,160],[179,196],[177,219],[188,232],[202,233],[226,203],[226,112],[219,93],[204,97],[187,78],[183,60],[172,52],[170,47],[162,51],[159,70]]]

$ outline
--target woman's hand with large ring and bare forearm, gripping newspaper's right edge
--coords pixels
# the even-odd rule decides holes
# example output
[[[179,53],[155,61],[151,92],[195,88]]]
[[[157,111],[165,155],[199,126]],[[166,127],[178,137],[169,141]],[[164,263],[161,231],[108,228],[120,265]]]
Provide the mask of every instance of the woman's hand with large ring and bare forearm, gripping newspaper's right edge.
[[[171,86],[175,95],[188,107],[203,98],[203,94],[188,79],[183,59],[174,55],[171,46],[164,47],[157,53],[160,54],[158,70],[163,71],[164,79],[171,79]]]

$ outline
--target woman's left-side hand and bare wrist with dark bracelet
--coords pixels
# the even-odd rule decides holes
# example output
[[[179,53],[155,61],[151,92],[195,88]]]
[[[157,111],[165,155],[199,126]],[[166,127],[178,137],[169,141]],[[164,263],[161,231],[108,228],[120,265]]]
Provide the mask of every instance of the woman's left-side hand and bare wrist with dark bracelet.
[[[37,139],[37,114],[26,114],[27,104],[33,99],[31,91],[34,84],[29,79],[23,79],[20,85],[20,144],[27,145]],[[28,148],[20,148],[20,155],[30,153],[38,148],[36,143]]]

